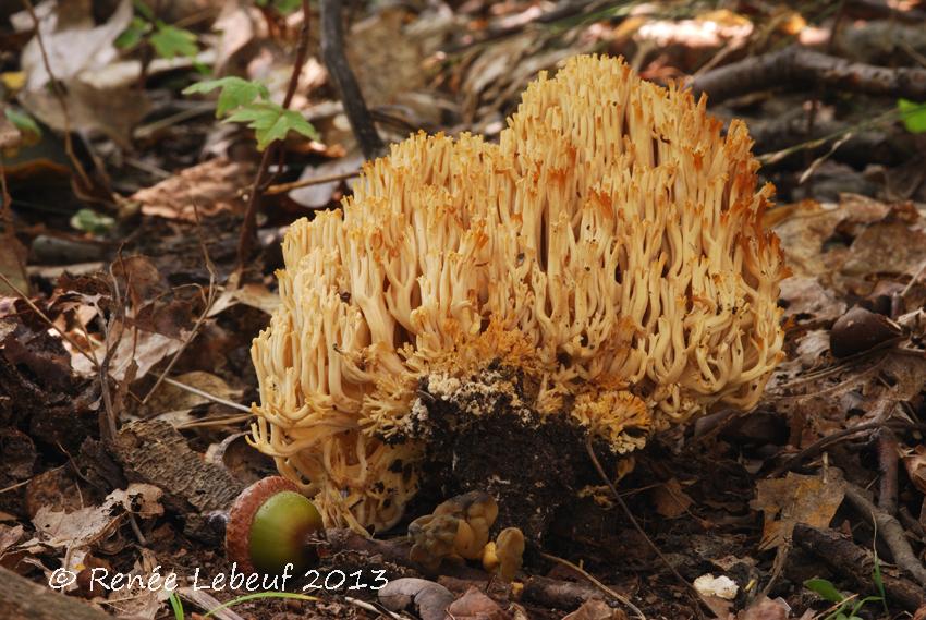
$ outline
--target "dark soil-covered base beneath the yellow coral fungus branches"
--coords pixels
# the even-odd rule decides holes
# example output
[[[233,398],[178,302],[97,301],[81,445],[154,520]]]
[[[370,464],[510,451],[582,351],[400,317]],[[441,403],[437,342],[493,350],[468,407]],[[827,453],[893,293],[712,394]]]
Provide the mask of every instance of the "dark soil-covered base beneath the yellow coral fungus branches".
[[[438,498],[470,490],[489,493],[499,503],[492,528],[519,527],[539,542],[555,513],[578,489],[600,484],[585,449],[586,429],[563,415],[540,415],[519,404],[529,381],[516,369],[490,364],[447,392],[422,382],[411,433],[427,437],[421,467],[423,495]],[[514,389],[512,390],[512,386]],[[605,466],[617,458],[598,441]]]

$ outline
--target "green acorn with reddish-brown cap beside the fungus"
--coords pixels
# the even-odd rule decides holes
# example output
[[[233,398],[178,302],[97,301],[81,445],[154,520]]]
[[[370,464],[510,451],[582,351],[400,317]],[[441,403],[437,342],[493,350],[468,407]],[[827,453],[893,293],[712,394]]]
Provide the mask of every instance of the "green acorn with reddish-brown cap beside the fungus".
[[[287,563],[297,572],[315,560],[307,543],[324,527],[318,509],[293,482],[270,476],[235,499],[226,526],[226,554],[243,572],[279,574]]]

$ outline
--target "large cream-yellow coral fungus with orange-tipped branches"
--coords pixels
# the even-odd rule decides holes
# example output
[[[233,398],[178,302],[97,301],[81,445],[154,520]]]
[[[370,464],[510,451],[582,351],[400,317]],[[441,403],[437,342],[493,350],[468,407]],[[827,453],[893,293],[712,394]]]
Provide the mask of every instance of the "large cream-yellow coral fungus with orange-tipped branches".
[[[782,356],[785,268],[746,129],[720,130],[704,100],[578,57],[527,88],[498,145],[394,145],[343,209],[287,234],[254,443],[326,524],[383,528],[417,488],[429,379],[514,368],[536,386],[515,405],[621,453],[753,406]]]

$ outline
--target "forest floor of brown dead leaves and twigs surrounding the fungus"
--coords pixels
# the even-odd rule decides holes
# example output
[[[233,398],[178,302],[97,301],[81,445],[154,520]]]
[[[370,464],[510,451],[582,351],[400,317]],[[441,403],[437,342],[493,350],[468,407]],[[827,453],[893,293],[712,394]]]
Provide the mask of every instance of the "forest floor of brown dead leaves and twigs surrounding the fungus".
[[[791,269],[787,361],[754,411],[655,437],[618,485],[628,511],[569,502],[515,585],[428,576],[456,620],[926,619],[926,5],[351,2],[322,59],[339,2],[149,4],[0,8],[0,566],[73,571],[68,601],[125,619],[241,594],[187,578],[231,570],[212,515],[276,473],[246,442],[249,348],[287,227],[351,192],[376,136],[496,139],[539,71],[598,52],[746,122]],[[356,549],[319,570],[348,566],[416,574]],[[95,568],[182,583],[100,596]],[[306,592],[215,615],[434,617]]]

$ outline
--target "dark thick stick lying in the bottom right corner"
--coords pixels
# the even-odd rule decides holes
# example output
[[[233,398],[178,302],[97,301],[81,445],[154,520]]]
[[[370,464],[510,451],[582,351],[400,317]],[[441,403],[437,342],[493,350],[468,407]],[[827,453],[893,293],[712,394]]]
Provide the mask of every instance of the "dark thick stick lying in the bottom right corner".
[[[854,582],[866,594],[877,595],[874,582],[875,558],[867,550],[842,534],[797,523],[793,539],[805,551],[827,564],[833,572]],[[915,611],[926,604],[926,593],[915,583],[889,574],[881,569],[885,593],[891,603],[907,611]]]

